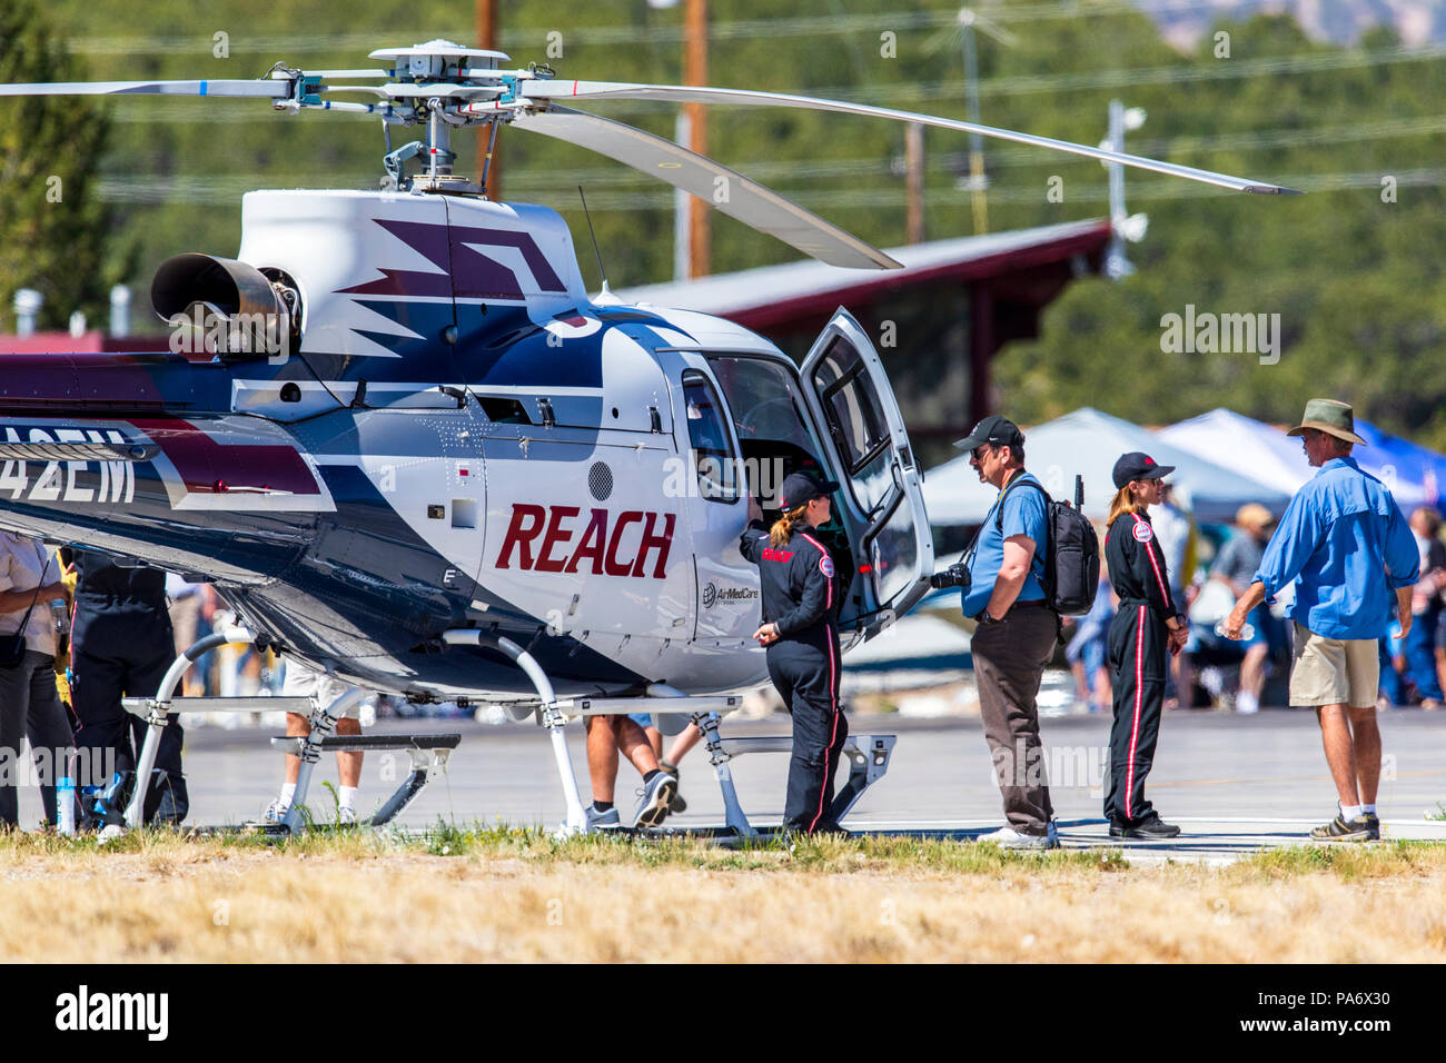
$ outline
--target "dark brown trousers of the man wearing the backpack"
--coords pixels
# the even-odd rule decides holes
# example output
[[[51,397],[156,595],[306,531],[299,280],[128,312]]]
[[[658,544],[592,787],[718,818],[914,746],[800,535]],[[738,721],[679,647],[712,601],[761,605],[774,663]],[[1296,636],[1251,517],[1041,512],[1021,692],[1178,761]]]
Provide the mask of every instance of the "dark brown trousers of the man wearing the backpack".
[[[1040,605],[1017,605],[1002,620],[975,629],[970,655],[979,684],[979,719],[989,742],[1005,820],[1021,834],[1043,836],[1054,819],[1040,739],[1040,677],[1054,654],[1060,618]]]

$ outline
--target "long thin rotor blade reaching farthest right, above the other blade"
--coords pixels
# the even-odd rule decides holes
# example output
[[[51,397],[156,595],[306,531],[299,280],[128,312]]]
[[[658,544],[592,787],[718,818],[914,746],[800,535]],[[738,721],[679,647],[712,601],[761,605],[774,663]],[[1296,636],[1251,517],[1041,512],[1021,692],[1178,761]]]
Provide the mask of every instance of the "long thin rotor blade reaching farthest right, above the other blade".
[[[954,129],[962,133],[979,133],[998,140],[1014,140],[1021,145],[1050,148],[1057,152],[1083,155],[1100,162],[1118,162],[1124,166],[1150,169],[1155,174],[1186,178],[1187,181],[1202,181],[1207,185],[1231,188],[1238,192],[1262,192],[1271,195],[1300,195],[1294,188],[1272,185],[1268,181],[1252,181],[1248,178],[1216,174],[1196,166],[1181,166],[1174,162],[1158,162],[1141,155],[1125,155],[1105,148],[1087,148],[1069,140],[1054,140],[1047,136],[1032,133],[1017,133],[1012,129],[996,129],[995,126],[980,126],[975,121],[957,121],[954,119],[938,119],[933,114],[917,114],[914,111],[899,111],[892,107],[872,107],[860,103],[844,103],[840,100],[820,100],[811,95],[788,95],[784,93],[758,93],[746,88],[691,88],[687,85],[642,85],[625,81],[523,81],[519,87],[523,97],[529,100],[661,100],[665,103],[719,103],[719,104],[752,104],[755,107],[803,107],[817,111],[842,111],[844,114],[862,114],[873,119],[894,119],[897,121],[914,121],[923,126],[937,126],[938,129]]]

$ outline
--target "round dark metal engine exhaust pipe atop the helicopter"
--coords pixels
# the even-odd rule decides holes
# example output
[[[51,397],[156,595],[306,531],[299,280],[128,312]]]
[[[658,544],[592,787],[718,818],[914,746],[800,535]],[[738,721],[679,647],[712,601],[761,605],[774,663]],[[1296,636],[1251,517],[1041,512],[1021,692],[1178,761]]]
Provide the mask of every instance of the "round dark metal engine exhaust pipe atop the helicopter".
[[[191,362],[285,357],[301,327],[301,299],[288,281],[192,252],[161,263],[150,305],[171,325],[171,350]]]

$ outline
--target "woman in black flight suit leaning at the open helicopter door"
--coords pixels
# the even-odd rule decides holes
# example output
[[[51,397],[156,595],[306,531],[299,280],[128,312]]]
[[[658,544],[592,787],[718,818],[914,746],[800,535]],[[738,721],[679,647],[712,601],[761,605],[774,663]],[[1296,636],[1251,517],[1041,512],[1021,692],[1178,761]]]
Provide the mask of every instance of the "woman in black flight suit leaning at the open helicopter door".
[[[814,528],[827,524],[837,483],[792,473],[778,492],[784,515],[768,528],[749,496],[743,557],[758,565],[763,623],[753,632],[768,646],[768,675],[794,717],[784,829],[846,833],[830,814],[833,774],[849,736],[839,706],[839,599],[833,558]]]

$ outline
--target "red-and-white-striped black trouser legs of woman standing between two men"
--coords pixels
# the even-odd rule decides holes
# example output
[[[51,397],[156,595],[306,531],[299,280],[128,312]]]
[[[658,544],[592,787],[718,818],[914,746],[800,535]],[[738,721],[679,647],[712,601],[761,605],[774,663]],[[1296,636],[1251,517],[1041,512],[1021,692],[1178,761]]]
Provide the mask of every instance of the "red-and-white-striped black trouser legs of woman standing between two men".
[[[1121,602],[1109,625],[1115,722],[1109,727],[1105,816],[1111,823],[1128,827],[1155,816],[1145,800],[1145,777],[1155,759],[1168,658],[1170,636],[1164,619],[1144,602]]]

